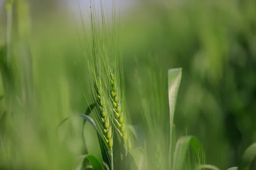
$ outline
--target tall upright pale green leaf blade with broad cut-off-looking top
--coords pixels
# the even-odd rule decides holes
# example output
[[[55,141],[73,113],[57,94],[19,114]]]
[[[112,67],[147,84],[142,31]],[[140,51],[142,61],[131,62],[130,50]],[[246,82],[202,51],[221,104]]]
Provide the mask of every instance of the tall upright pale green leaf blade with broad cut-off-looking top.
[[[168,94],[169,94],[169,109],[170,109],[170,145],[169,145],[169,167],[172,164],[172,128],[175,111],[175,103],[177,94],[180,88],[182,68],[169,69],[168,71]]]

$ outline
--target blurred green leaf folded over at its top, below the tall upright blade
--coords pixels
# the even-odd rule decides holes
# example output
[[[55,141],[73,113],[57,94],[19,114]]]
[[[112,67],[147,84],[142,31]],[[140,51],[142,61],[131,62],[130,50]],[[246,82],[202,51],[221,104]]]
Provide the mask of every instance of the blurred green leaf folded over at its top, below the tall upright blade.
[[[189,146],[192,148],[194,153],[196,153],[196,151],[201,148],[200,142],[194,136],[183,136],[178,139],[173,157],[172,170],[183,169],[186,153],[189,149]]]

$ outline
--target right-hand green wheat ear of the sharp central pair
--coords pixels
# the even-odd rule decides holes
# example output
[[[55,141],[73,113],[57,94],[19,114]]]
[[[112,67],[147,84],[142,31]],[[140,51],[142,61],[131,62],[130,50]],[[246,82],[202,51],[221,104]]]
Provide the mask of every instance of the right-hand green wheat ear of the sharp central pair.
[[[110,85],[111,85],[111,102],[113,108],[113,118],[116,130],[119,133],[119,136],[123,139],[124,147],[127,149],[127,134],[125,133],[125,122],[124,122],[124,113],[121,108],[121,96],[119,96],[119,90],[116,88],[116,79],[113,72],[110,73]]]

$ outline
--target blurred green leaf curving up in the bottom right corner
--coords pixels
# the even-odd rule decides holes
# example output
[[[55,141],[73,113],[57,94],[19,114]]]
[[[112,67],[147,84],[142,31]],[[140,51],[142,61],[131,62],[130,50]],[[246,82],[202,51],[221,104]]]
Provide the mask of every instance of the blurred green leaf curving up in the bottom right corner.
[[[251,144],[244,152],[241,162],[239,164],[239,170],[249,170],[250,164],[256,156],[256,142]]]

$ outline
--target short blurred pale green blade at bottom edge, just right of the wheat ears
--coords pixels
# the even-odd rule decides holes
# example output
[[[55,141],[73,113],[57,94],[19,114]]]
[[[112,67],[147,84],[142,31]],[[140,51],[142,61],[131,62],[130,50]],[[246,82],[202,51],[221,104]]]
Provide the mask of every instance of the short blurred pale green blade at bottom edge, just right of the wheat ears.
[[[129,151],[130,156],[132,157],[134,163],[136,164],[137,170],[143,170],[144,164],[144,151],[142,147],[138,147],[136,149]]]

